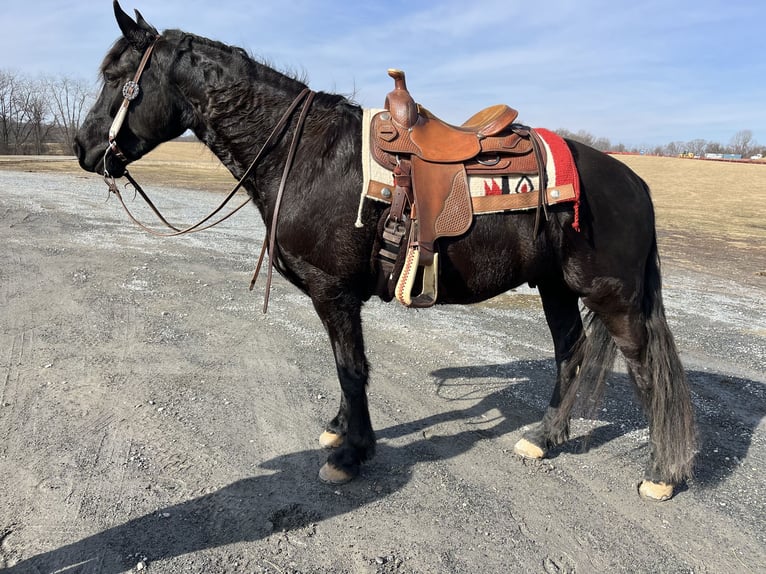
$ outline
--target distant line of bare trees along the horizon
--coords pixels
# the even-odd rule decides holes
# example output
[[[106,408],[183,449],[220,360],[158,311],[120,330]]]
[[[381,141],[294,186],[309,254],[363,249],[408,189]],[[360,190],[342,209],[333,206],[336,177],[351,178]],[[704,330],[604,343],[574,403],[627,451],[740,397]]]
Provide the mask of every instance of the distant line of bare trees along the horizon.
[[[0,154],[71,154],[74,136],[95,96],[96,86],[82,79],[64,75],[33,78],[0,69]],[[727,145],[695,139],[654,147],[614,144],[585,130],[558,129],[556,133],[601,151],[666,156],[706,153],[733,153],[743,158],[757,153],[766,156],[766,146],[753,139],[751,130],[735,133]]]

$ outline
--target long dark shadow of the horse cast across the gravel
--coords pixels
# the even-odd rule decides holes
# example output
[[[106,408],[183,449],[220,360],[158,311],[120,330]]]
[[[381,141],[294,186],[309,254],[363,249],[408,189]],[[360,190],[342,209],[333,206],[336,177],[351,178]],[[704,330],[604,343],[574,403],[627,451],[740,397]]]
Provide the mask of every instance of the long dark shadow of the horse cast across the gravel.
[[[117,574],[135,566],[143,557],[160,560],[227,544],[258,540],[283,530],[311,528],[333,516],[361,508],[403,488],[412,470],[423,460],[445,460],[459,456],[483,440],[502,437],[539,420],[551,390],[552,361],[518,361],[499,365],[452,367],[433,371],[437,393],[446,400],[467,406],[394,425],[381,430],[376,458],[364,467],[361,480],[331,487],[314,479],[323,454],[317,450],[295,452],[273,458],[261,467],[263,474],[234,482],[210,494],[145,514],[108,528],[72,544],[41,553],[3,570],[6,574],[27,572],[99,572]],[[716,416],[703,409],[701,442],[704,444],[696,480],[712,486],[724,480],[732,467],[713,464],[705,453],[718,449],[742,460],[752,435],[766,414],[764,401],[743,405],[738,385],[755,385],[763,397],[763,383],[725,378],[692,371],[689,378],[699,401],[717,401]],[[509,382],[510,379],[510,382]],[[497,381],[496,383],[493,381]],[[552,456],[594,448],[645,426],[645,419],[624,374],[610,377],[610,388],[599,412],[599,426],[587,441],[582,437],[556,449]],[[478,400],[477,400],[478,399]],[[708,420],[709,419],[709,420]],[[447,440],[424,429],[467,421],[465,428]],[[475,428],[472,421],[480,421]],[[407,435],[402,446],[393,446]],[[647,451],[642,454],[648,456]],[[727,470],[729,469],[729,470]],[[373,478],[374,477],[374,478]],[[342,490],[342,496],[338,491]]]

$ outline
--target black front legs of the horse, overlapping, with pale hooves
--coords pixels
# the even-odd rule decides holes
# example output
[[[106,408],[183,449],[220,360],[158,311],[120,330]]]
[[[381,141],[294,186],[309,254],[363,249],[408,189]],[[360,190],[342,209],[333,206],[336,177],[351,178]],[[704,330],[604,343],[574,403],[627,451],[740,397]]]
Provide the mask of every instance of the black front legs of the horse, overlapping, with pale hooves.
[[[375,454],[367,406],[369,367],[362,336],[362,302],[346,293],[330,299],[312,297],[312,301],[330,336],[342,393],[340,410],[319,439],[322,446],[334,449],[319,478],[342,484],[359,474],[361,463]]]

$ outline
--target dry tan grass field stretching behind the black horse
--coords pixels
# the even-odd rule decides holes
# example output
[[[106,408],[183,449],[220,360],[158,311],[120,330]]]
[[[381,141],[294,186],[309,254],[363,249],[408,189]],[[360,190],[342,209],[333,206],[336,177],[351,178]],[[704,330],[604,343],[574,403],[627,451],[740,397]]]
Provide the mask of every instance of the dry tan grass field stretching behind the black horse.
[[[766,275],[766,162],[615,156],[649,184],[666,260],[759,284]],[[61,157],[0,157],[0,169],[79,172]],[[151,185],[226,191],[234,179],[199,143],[169,142],[131,168]]]

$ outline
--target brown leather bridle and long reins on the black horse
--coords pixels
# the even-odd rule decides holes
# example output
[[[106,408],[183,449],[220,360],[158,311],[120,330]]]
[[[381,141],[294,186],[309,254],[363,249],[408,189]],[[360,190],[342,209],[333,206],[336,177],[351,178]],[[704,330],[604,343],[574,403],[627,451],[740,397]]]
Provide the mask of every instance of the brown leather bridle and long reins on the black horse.
[[[112,121],[112,125],[109,128],[109,144],[107,145],[106,151],[104,152],[104,181],[106,182],[109,188],[109,193],[112,193],[117,196],[117,198],[120,200],[120,203],[122,204],[123,209],[128,214],[128,217],[136,225],[138,225],[144,231],[151,233],[152,235],[155,235],[158,237],[176,237],[179,235],[186,235],[189,233],[196,233],[198,231],[203,231],[205,229],[210,229],[211,227],[218,225],[222,221],[225,221],[226,219],[234,215],[236,212],[238,212],[240,209],[242,209],[245,205],[250,203],[250,198],[247,198],[244,202],[242,202],[239,206],[234,208],[232,211],[230,211],[226,215],[220,217],[219,219],[217,219],[216,221],[213,221],[212,223],[208,223],[213,217],[215,217],[218,214],[218,212],[220,212],[229,203],[229,201],[231,201],[234,195],[236,195],[236,193],[240,190],[243,183],[245,182],[245,180],[247,180],[248,177],[250,177],[256,165],[264,156],[266,151],[270,147],[272,147],[272,145],[277,141],[282,131],[284,130],[285,126],[287,125],[287,122],[290,120],[290,117],[292,116],[293,112],[298,108],[301,102],[303,102],[303,107],[301,108],[300,115],[298,116],[298,122],[295,126],[295,131],[293,132],[293,138],[290,142],[290,148],[287,154],[287,159],[285,161],[285,166],[282,170],[282,179],[280,180],[279,189],[277,191],[276,202],[274,205],[274,213],[272,215],[271,226],[269,228],[268,242],[264,239],[263,246],[261,247],[261,254],[258,257],[258,264],[256,265],[255,272],[253,273],[253,278],[250,281],[250,290],[252,291],[255,285],[255,281],[258,278],[258,274],[261,270],[261,264],[263,263],[263,259],[268,248],[269,265],[268,265],[268,271],[267,271],[267,277],[266,277],[266,293],[264,295],[264,301],[263,301],[263,312],[266,313],[268,311],[268,306],[269,306],[269,293],[271,291],[271,280],[273,275],[274,250],[276,247],[277,221],[279,217],[279,208],[282,204],[282,196],[284,195],[284,189],[285,189],[285,184],[287,182],[287,176],[290,173],[290,168],[292,167],[293,159],[295,157],[295,150],[298,147],[298,141],[300,139],[300,134],[303,131],[303,125],[305,123],[309,107],[311,106],[311,102],[313,101],[314,96],[316,96],[316,92],[310,90],[309,88],[304,88],[301,91],[301,93],[295,97],[293,102],[290,104],[290,107],[288,107],[285,113],[282,114],[282,117],[280,118],[279,122],[277,122],[277,125],[274,126],[274,129],[269,134],[269,137],[266,138],[266,141],[261,146],[261,149],[258,150],[258,153],[255,155],[255,158],[250,163],[250,166],[245,170],[245,173],[242,175],[241,178],[239,178],[239,181],[234,186],[234,188],[229,192],[226,198],[221,202],[221,204],[218,207],[216,207],[212,212],[210,212],[209,215],[205,216],[203,219],[201,219],[197,223],[190,225],[188,227],[178,228],[172,225],[171,223],[169,223],[167,219],[162,215],[162,213],[160,213],[160,211],[155,207],[152,200],[149,199],[149,196],[146,195],[146,193],[138,184],[138,182],[135,179],[133,179],[133,177],[128,172],[127,168],[125,168],[124,175],[125,175],[125,178],[130,182],[130,185],[132,185],[133,188],[141,195],[141,197],[144,199],[146,204],[151,208],[151,210],[154,212],[157,218],[166,227],[171,229],[171,232],[156,231],[150,227],[147,227],[143,223],[141,223],[131,213],[130,209],[128,209],[128,206],[126,205],[125,200],[122,198],[122,194],[120,193],[120,189],[117,186],[115,178],[107,170],[107,158],[109,157],[110,154],[114,154],[120,161],[124,162],[125,164],[128,163],[127,157],[117,145],[117,134],[119,134],[120,129],[122,128],[122,124],[125,122],[125,118],[127,117],[127,113],[128,113],[128,108],[130,107],[130,102],[132,102],[138,97],[138,94],[140,92],[139,80],[141,79],[141,75],[144,72],[144,68],[146,68],[146,64],[149,61],[149,57],[154,51],[154,46],[156,45],[159,38],[160,37],[158,36],[154,40],[154,42],[152,42],[152,44],[144,52],[144,55],[141,58],[141,63],[138,66],[138,70],[136,70],[136,74],[133,77],[133,80],[127,81],[122,88],[122,95],[123,95],[122,105],[120,106],[120,109],[117,111],[117,114],[115,115],[114,120]]]

